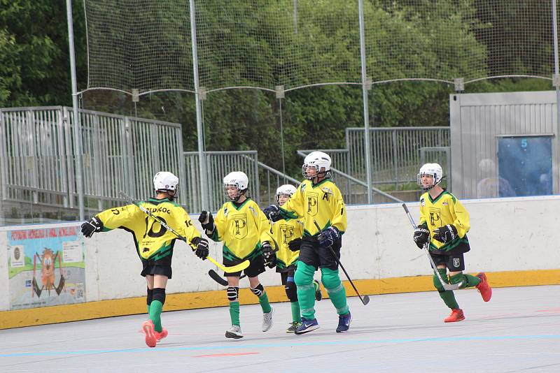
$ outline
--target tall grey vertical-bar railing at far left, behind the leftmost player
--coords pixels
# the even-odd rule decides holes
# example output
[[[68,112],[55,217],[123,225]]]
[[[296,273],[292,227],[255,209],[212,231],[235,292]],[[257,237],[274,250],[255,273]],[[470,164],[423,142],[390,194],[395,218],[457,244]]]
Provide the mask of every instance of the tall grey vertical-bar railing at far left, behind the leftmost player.
[[[71,108],[0,109],[1,200],[76,209],[76,161],[89,213],[118,203],[118,191],[151,196],[160,170],[185,180],[180,124],[79,112],[82,154],[76,157]]]

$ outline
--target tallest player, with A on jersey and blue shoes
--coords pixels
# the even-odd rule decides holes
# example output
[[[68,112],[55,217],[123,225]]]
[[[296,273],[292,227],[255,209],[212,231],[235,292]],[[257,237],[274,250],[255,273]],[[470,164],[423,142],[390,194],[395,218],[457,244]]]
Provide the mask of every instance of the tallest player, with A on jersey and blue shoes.
[[[303,237],[300,258],[295,271],[297,299],[302,311],[302,325],[295,330],[301,335],[319,328],[315,318],[313,276],[321,268],[321,282],[339,315],[337,332],[350,328],[351,314],[346,291],[338,275],[338,264],[329,249],[340,257],[342,234],[346,231],[346,208],[338,187],[330,180],[330,156],[311,152],[304,159],[300,184],[290,200],[281,207],[272,207],[270,216],[277,219],[301,219]],[[317,231],[315,222],[321,227]],[[321,240],[318,239],[321,237]]]

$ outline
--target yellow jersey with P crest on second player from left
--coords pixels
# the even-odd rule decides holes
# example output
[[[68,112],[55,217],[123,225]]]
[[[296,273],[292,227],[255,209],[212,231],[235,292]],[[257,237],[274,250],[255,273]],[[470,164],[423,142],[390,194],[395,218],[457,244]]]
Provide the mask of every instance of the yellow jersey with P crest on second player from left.
[[[251,198],[239,205],[224,203],[216,213],[214,225],[210,238],[223,242],[223,257],[230,261],[255,258],[261,254],[261,242],[271,240],[269,221]]]

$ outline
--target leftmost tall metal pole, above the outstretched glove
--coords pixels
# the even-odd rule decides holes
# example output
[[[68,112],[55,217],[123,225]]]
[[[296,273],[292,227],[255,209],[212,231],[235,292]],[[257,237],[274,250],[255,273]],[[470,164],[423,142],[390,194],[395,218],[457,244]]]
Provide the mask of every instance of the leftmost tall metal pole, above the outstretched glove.
[[[76,158],[76,189],[78,191],[78,205],[80,220],[85,219],[83,206],[83,178],[82,178],[82,132],[80,129],[80,114],[78,113],[78,84],[76,82],[76,52],[74,50],[74,29],[72,17],[72,0],[66,0],[66,22],[68,23],[68,45],[70,54],[70,75],[72,81],[72,111],[74,117],[74,153]],[[73,198],[70,196],[70,198]]]

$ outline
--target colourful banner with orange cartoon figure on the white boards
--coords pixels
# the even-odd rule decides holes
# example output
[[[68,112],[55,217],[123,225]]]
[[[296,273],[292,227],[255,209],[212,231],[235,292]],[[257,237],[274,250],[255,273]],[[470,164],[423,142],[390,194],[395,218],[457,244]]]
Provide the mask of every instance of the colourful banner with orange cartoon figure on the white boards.
[[[85,302],[85,255],[77,226],[7,232],[10,309]]]

